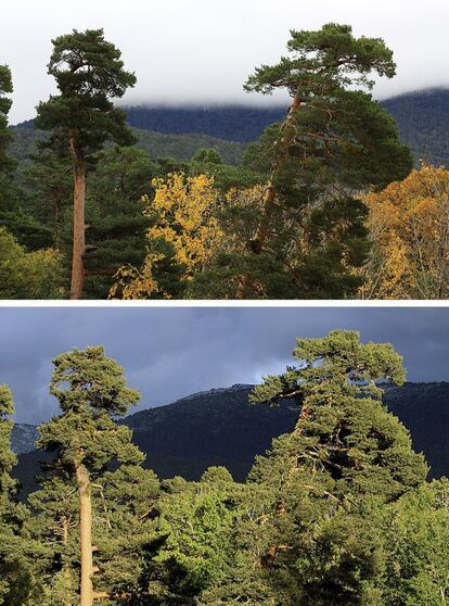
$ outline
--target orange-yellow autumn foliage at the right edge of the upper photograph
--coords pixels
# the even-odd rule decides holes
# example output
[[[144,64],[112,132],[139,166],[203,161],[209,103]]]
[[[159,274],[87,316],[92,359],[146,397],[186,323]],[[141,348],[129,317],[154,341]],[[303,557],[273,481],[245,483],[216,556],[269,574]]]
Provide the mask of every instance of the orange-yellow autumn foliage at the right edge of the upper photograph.
[[[364,198],[373,251],[363,299],[449,296],[449,171],[423,165]]]

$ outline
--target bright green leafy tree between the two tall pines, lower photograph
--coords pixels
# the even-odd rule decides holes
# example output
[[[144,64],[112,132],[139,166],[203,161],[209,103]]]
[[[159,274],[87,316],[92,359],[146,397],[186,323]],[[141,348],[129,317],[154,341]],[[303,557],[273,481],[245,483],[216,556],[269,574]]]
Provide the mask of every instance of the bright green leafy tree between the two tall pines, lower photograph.
[[[158,501],[159,542],[147,564],[155,604],[192,604],[232,570],[232,527],[239,484],[224,468],[209,468],[200,482],[165,482]],[[187,601],[187,602],[183,602]]]

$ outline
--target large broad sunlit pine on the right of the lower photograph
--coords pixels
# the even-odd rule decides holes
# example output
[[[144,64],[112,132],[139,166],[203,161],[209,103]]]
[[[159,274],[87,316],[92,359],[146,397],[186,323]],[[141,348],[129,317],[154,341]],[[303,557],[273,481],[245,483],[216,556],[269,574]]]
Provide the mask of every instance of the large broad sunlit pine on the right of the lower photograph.
[[[297,340],[294,356],[297,366],[267,377],[252,396],[296,399],[300,414],[249,475],[239,591],[285,606],[379,604],[383,510],[427,474],[375,384],[403,382],[401,357],[345,330]]]

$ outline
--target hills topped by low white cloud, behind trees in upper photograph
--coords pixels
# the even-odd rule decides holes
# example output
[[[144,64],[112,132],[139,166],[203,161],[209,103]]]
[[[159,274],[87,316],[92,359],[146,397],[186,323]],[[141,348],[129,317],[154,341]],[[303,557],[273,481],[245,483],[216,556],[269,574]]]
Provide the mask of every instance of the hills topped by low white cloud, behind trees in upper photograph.
[[[408,92],[382,101],[399,126],[405,143],[413,150],[416,163],[426,160],[449,166],[449,89],[434,88]],[[201,148],[217,149],[224,162],[240,162],[246,144],[264,129],[282,119],[286,106],[247,105],[124,108],[128,123],[139,136],[137,147],[153,159],[172,156],[190,160]],[[12,127],[12,153],[24,160],[34,151],[37,137],[33,121]]]

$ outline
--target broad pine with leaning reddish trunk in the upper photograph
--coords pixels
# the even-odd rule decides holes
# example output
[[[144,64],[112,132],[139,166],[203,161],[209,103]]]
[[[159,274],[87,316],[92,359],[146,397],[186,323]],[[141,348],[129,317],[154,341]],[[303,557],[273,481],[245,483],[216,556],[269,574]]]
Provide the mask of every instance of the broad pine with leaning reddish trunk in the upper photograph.
[[[255,168],[269,177],[258,224],[247,241],[249,260],[243,265],[240,298],[257,291],[251,276],[257,261],[251,255],[279,255],[275,235],[283,214],[299,228],[307,209],[322,200],[357,206],[355,191],[385,186],[412,168],[411,153],[400,144],[394,121],[362,90],[372,88],[373,73],[395,75],[393,53],[383,40],[355,38],[350,26],[326,24],[318,31],[292,30],[287,49],[290,56],[273,66],[261,65],[244,86],[264,94],[286,90],[293,103],[284,122],[268,129],[260,149],[253,152]],[[332,251],[328,254],[332,257]],[[294,263],[292,252],[286,261]],[[332,276],[326,279],[332,281]]]

